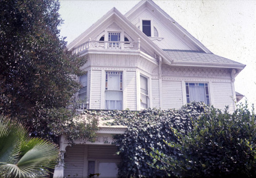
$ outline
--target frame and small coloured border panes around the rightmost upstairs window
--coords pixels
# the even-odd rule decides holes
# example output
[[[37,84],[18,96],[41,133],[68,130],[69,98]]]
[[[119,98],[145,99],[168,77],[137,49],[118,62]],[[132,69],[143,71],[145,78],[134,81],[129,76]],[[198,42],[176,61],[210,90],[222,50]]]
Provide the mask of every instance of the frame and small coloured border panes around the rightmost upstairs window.
[[[204,96],[205,96],[205,99],[206,99],[206,103],[205,103],[205,101],[199,101],[199,100],[198,100],[198,102],[204,102],[206,105],[210,105],[211,104],[210,89],[209,89],[209,83],[208,82],[185,82],[185,98],[186,98],[186,103],[189,103],[189,102],[193,101],[193,100],[190,99],[191,94],[190,94],[190,91],[189,91],[189,86],[199,86],[199,85],[202,86],[202,84],[204,86]]]

